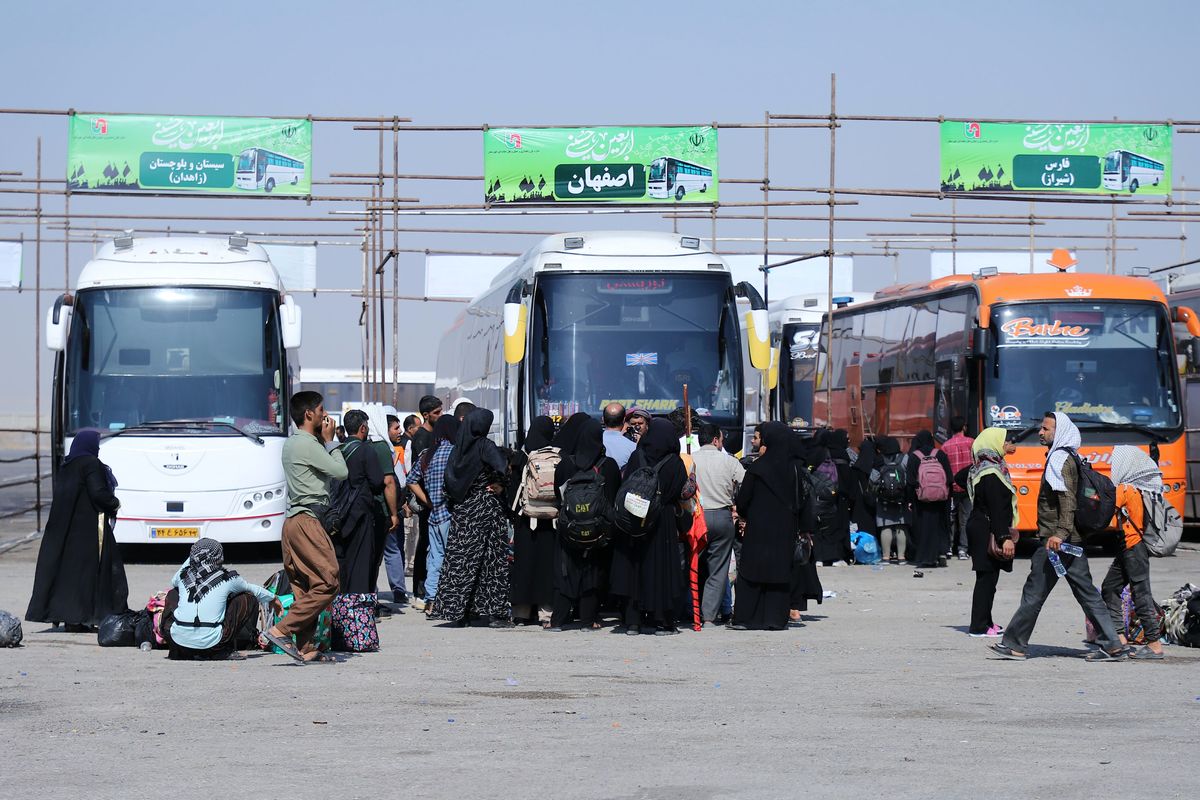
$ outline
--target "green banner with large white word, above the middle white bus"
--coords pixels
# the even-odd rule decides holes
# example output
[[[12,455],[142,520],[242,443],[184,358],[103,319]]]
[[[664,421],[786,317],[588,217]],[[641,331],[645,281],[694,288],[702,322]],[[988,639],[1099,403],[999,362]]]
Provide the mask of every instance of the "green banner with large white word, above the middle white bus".
[[[488,203],[716,203],[716,128],[493,128]]]

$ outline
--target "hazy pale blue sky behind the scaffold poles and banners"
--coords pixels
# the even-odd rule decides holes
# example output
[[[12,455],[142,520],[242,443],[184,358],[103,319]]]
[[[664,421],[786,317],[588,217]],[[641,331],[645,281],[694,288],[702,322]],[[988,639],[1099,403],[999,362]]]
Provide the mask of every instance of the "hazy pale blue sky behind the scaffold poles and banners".
[[[1132,13],[1133,12],[1133,13]],[[1019,119],[1200,118],[1190,54],[1198,29],[1194,4],[1153,7],[1128,2],[208,2],[186,10],[161,2],[5,4],[8,34],[0,52],[10,108],[146,112],[205,115],[398,115],[420,124],[655,124],[712,120],[758,121],[764,112],[826,114],[829,73],[838,73],[838,108],[846,114],[1002,116]],[[1148,31],[1148,32],[1147,32]],[[34,173],[35,140],[43,138],[43,170],[60,178],[66,160],[66,118],[0,115],[0,170]],[[917,124],[847,124],[838,138],[838,182],[856,187],[936,188],[937,128]],[[828,181],[826,131],[774,132],[772,181],[823,186]],[[314,130],[316,176],[374,170],[377,139],[349,126]],[[1175,178],[1186,179],[1200,137],[1177,136]],[[390,169],[390,140],[388,161]],[[721,174],[762,174],[762,132],[721,133]],[[401,169],[410,173],[480,174],[480,133],[408,133]],[[1192,170],[1193,173],[1195,170]],[[355,190],[320,187],[346,193]],[[356,191],[355,191],[356,193]],[[474,182],[402,185],[424,201],[480,201]],[[722,186],[722,200],[751,200],[752,187]],[[784,196],[775,194],[774,199]],[[812,199],[815,196],[788,196]],[[30,196],[5,193],[0,207],[31,205]],[[332,206],[313,206],[325,216]],[[349,207],[349,206],[341,206]],[[61,212],[62,199],[46,199]],[[1025,213],[1018,203],[965,204],[959,211]],[[76,196],[73,213],[146,215],[302,213],[302,203],[215,199],[133,200]],[[948,212],[948,201],[863,200],[846,213]],[[1039,205],[1039,212],[1099,213],[1092,206]],[[778,213],[817,215],[817,206]],[[877,216],[876,215],[876,216]],[[2,217],[0,217],[2,219]],[[6,221],[7,222],[7,221]],[[80,219],[74,224],[128,223]],[[161,227],[146,221],[137,227]],[[348,231],[349,223],[173,222],[178,228],[241,228],[296,233]],[[511,230],[656,228],[654,216],[566,218],[402,218],[407,227],[475,227]],[[707,223],[682,223],[707,236]],[[838,235],[937,234],[942,225],[840,223]],[[1027,235],[1027,228],[996,228]],[[1048,231],[1103,234],[1103,223],[1063,222]],[[1138,233],[1177,234],[1178,225],[1146,225]],[[0,237],[31,227],[4,224]],[[757,222],[722,222],[722,236],[761,236]],[[818,237],[823,223],[774,223],[774,235]],[[61,239],[60,231],[44,235]],[[404,234],[402,247],[521,251],[534,235]],[[390,242],[390,236],[389,240]],[[1024,246],[1019,237],[966,246]],[[1049,243],[1049,242],[1048,242]],[[1079,240],[1076,243],[1088,243]],[[1091,241],[1103,245],[1103,241]],[[1178,241],[1138,245],[1122,253],[1121,269],[1178,260]],[[752,249],[754,242],[726,243]],[[820,243],[779,249],[822,249]],[[839,249],[869,248],[845,243]],[[32,252],[25,272],[32,285]],[[72,275],[90,247],[72,247]],[[1080,253],[1086,266],[1103,253]],[[43,281],[60,287],[62,246],[42,252]],[[906,251],[900,277],[928,269],[929,255]],[[349,247],[319,252],[323,287],[356,283],[361,263]],[[406,288],[420,294],[422,259],[401,259]],[[821,270],[823,261],[803,269]],[[893,275],[892,259],[858,261],[858,270]],[[44,308],[54,294],[42,300]],[[302,362],[359,363],[360,301],[301,297],[307,327]],[[407,302],[403,327],[414,331],[402,368],[432,369],[436,336],[455,307]],[[0,331],[12,390],[0,414],[32,408],[32,293],[0,293]],[[43,378],[48,359],[43,359]],[[43,381],[44,383],[44,381]],[[47,392],[48,393],[48,392]]]

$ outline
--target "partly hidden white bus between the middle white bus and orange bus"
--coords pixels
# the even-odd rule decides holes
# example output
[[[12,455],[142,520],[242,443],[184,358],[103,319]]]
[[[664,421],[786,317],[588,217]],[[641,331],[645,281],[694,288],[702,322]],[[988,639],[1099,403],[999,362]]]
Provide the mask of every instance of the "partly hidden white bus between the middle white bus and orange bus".
[[[793,295],[768,307],[773,344],[769,419],[781,420],[793,428],[812,425],[812,397],[824,365],[821,324],[829,311],[827,297],[823,293]],[[836,309],[874,297],[869,291],[850,291],[835,295],[833,302]]]

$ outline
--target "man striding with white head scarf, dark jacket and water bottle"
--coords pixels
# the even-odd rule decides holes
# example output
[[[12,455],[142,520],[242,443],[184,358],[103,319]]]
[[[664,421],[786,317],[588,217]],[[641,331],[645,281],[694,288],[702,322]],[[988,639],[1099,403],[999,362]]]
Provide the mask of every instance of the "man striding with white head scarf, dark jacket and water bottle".
[[[1013,614],[1008,630],[1004,631],[1004,638],[990,645],[990,649],[1004,658],[1025,658],[1042,606],[1058,583],[1058,575],[1051,561],[1051,555],[1056,555],[1067,567],[1063,577],[1070,584],[1075,600],[1099,632],[1097,643],[1100,650],[1087,654],[1087,660],[1123,661],[1126,649],[1117,638],[1099,590],[1092,583],[1087,557],[1070,555],[1060,551],[1060,546],[1064,542],[1076,546],[1082,546],[1084,542],[1075,529],[1075,492],[1079,488],[1080,476],[1074,453],[1081,441],[1079,428],[1066,414],[1048,411],[1042,420],[1038,437],[1042,444],[1049,447],[1042,486],[1038,489],[1038,540],[1042,546],[1030,559],[1030,577],[1026,578],[1025,589],[1021,591],[1021,606]]]

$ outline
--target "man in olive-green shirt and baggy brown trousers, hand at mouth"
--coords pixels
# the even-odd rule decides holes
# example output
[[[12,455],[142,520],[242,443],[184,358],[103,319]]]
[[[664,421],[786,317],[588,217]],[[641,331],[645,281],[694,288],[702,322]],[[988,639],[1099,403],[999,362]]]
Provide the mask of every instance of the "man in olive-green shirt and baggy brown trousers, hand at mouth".
[[[296,392],[288,403],[296,432],[283,444],[283,474],[288,486],[288,516],[283,523],[281,546],[283,570],[292,582],[295,602],[288,615],[264,636],[289,656],[319,661],[313,634],[317,618],[337,595],[337,557],[329,534],[317,521],[312,507],[329,503],[326,482],[348,475],[341,451],[325,451],[334,437],[334,421],[325,416],[325,405],[317,392]],[[295,644],[292,644],[292,636]]]

